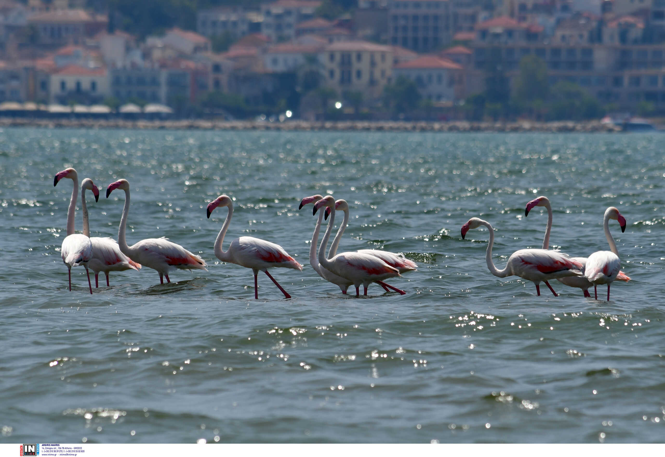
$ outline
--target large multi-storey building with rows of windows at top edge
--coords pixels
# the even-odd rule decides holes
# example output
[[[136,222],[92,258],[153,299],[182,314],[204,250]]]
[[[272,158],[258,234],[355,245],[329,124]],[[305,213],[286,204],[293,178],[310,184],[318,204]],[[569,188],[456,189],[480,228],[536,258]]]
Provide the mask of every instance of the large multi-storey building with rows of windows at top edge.
[[[427,53],[450,43],[450,1],[391,0],[388,4],[390,44]]]

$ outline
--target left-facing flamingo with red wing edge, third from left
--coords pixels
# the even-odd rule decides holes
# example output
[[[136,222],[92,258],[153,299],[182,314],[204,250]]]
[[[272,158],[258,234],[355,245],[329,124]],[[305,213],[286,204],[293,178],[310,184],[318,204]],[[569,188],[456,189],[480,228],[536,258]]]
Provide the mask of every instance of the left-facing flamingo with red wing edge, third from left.
[[[122,218],[120,218],[120,227],[118,228],[118,245],[120,251],[136,263],[145,265],[160,273],[160,283],[164,284],[164,276],[168,283],[171,280],[168,272],[173,269],[201,269],[207,271],[205,260],[196,254],[191,253],[179,244],[168,241],[167,238],[147,238],[138,241],[138,243],[128,246],[125,239],[127,228],[127,217],[129,214],[130,194],[129,182],[127,180],[118,180],[108,185],[106,188],[106,198],[115,189],[124,190],[125,203],[122,208]]]

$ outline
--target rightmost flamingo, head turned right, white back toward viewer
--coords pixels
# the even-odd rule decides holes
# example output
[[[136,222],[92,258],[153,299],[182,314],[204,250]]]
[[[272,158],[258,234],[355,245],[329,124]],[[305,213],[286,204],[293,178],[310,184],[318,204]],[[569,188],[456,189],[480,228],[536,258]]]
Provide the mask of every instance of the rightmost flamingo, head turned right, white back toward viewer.
[[[602,218],[602,226],[605,230],[605,237],[610,245],[610,251],[596,251],[589,255],[587,261],[587,269],[585,276],[589,282],[593,283],[595,298],[598,299],[599,284],[607,284],[607,301],[610,300],[610,284],[614,282],[621,269],[621,261],[619,260],[619,251],[616,249],[614,238],[610,233],[610,219],[616,220],[621,228],[621,233],[626,229],[626,218],[621,216],[619,210],[610,206],[605,210]]]

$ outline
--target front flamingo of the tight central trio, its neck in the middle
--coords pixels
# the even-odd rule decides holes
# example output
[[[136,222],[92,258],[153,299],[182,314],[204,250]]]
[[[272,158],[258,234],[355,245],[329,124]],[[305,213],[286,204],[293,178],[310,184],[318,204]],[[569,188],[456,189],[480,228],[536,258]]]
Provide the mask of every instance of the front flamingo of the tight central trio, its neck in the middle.
[[[334,198],[326,196],[314,205],[313,214],[317,214],[319,208],[324,206],[334,208]],[[332,273],[352,281],[356,286],[356,297],[360,296],[360,284],[364,287],[364,295],[367,295],[367,286],[376,281],[383,281],[389,277],[400,276],[400,271],[388,265],[378,257],[359,252],[344,252],[327,259],[325,255],[328,240],[330,239],[332,226],[334,226],[334,214],[331,212],[330,220],[325,235],[319,247],[319,264]]]

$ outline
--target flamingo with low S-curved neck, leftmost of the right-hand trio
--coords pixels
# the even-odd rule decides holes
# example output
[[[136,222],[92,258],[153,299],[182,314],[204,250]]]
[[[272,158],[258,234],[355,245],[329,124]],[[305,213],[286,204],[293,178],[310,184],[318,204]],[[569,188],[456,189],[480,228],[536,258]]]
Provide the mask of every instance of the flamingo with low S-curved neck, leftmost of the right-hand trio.
[[[560,277],[580,276],[583,273],[583,265],[568,255],[557,251],[548,251],[547,249],[519,249],[513,252],[509,257],[505,268],[497,269],[492,261],[492,246],[494,245],[494,229],[487,221],[479,218],[471,218],[462,226],[462,239],[466,236],[469,229],[485,226],[489,230],[489,243],[487,244],[487,253],[485,260],[487,268],[497,277],[507,277],[517,275],[527,281],[533,281],[536,285],[536,292],[540,295],[540,283],[544,282],[552,291],[555,297],[557,293],[549,285],[550,279],[559,279]]]

